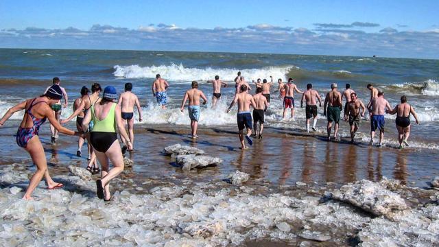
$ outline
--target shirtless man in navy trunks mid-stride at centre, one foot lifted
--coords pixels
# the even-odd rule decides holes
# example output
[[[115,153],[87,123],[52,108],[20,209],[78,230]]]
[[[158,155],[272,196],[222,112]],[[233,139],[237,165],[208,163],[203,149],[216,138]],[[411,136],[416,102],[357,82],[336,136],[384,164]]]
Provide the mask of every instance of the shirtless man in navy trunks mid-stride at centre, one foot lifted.
[[[239,87],[240,93],[235,94],[235,98],[233,102],[230,103],[230,106],[227,109],[227,113],[230,113],[230,109],[238,103],[238,113],[237,113],[237,122],[238,122],[238,130],[239,130],[239,141],[241,141],[242,150],[246,149],[246,144],[244,144],[244,128],[247,128],[246,139],[249,145],[253,145],[252,139],[250,136],[252,134],[252,115],[250,114],[250,105],[254,106],[256,103],[254,102],[253,96],[247,93],[247,86],[242,84]]]

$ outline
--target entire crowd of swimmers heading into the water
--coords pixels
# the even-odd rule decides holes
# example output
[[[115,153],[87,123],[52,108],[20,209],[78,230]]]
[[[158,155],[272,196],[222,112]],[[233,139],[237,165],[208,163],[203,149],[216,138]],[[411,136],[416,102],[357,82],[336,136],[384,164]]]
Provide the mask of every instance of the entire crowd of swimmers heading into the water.
[[[250,94],[252,88],[246,82],[244,76],[241,75],[241,72],[238,72],[234,80],[235,96],[227,109],[227,113],[230,113],[233,106],[237,104],[237,126],[239,141],[243,150],[248,148],[244,139],[248,145],[253,144],[252,138],[263,139],[265,111],[270,106],[270,89],[274,84],[272,76],[270,78],[270,82],[266,79],[263,79],[262,82],[260,79],[252,82],[255,87],[254,95]],[[61,110],[63,107],[66,108],[68,106],[68,96],[66,90],[60,86],[59,78],[54,78],[52,82],[52,85],[46,89],[43,95],[27,99],[13,106],[0,119],[1,127],[14,113],[25,110],[23,120],[16,134],[16,143],[29,153],[37,170],[29,181],[29,186],[23,198],[32,198],[32,192],[43,176],[47,183],[47,189],[63,187],[62,183],[56,183],[52,180],[47,170],[43,145],[38,138],[40,126],[46,120],[49,120],[52,143],[56,143],[58,132],[78,136],[77,156],[82,156],[82,145],[84,145],[85,139],[87,140],[88,165],[86,169],[91,174],[101,173],[101,177],[96,181],[97,197],[106,201],[111,200],[110,180],[123,171],[123,154],[126,151],[132,152],[134,150],[134,106],[137,107],[139,121],[142,121],[141,104],[137,95],[132,93],[132,84],[125,84],[125,92],[119,95],[118,100],[117,91],[113,86],[106,86],[102,97],[100,97],[102,88],[98,83],[94,83],[91,89],[83,86],[80,90],[81,97],[75,99],[73,103],[74,112],[67,119],[61,120]],[[207,83],[211,83],[213,86],[212,106],[215,108],[217,102],[222,97],[222,87],[226,87],[228,84],[219,80],[218,75],[215,75],[215,80],[209,80]],[[396,114],[395,122],[399,134],[399,148],[403,148],[404,145],[408,146],[410,115],[413,115],[416,124],[419,124],[419,122],[414,108],[407,103],[407,97],[405,95],[401,96],[401,104],[397,104],[392,108],[384,98],[384,93],[381,89],[376,89],[372,84],[368,84],[367,88],[370,90],[370,100],[365,106],[358,99],[357,93],[351,89],[350,84],[346,84],[343,94],[337,90],[336,83],[331,84],[331,91],[324,97],[323,106],[323,114],[327,117],[327,139],[331,140],[331,130],[333,127],[333,139],[339,139],[338,128],[342,118],[341,115],[343,115],[344,121],[347,121],[349,126],[351,126],[351,142],[354,143],[355,134],[361,119],[364,119],[367,109],[370,118],[370,145],[375,145],[375,132],[379,130],[377,146],[383,146],[384,114],[388,113],[391,115]],[[156,97],[157,103],[163,109],[166,109],[167,106],[168,89],[169,83],[161,78],[161,75],[157,74],[156,80],[152,83],[152,95]],[[283,102],[284,119],[287,116],[288,109],[291,110],[290,117],[294,119],[294,93],[301,93],[300,108],[303,107],[305,102],[306,131],[310,132],[311,119],[313,119],[311,130],[317,131],[317,102],[319,107],[322,107],[322,99],[318,91],[313,89],[312,84],[307,84],[306,91],[300,91],[292,78],[289,78],[286,84],[283,83],[282,79],[278,79],[277,92],[278,98]],[[63,105],[61,105],[62,99],[64,99]],[[193,139],[198,139],[197,130],[200,119],[201,99],[203,100],[202,104],[208,102],[204,93],[198,89],[198,82],[193,81],[191,89],[185,92],[180,106],[180,110],[183,112],[186,102],[189,101],[188,113],[191,119],[191,137]],[[343,100],[345,104],[344,113],[342,114]],[[67,123],[74,117],[76,117],[76,128],[78,131],[69,130],[62,126],[62,124]],[[128,126],[128,132],[126,131],[126,125]],[[244,134],[245,129],[246,134]],[[254,132],[252,132],[253,130]],[[121,137],[122,147],[119,144],[117,132],[119,132]],[[101,166],[100,169],[97,161],[99,161]],[[109,168],[109,163],[112,163],[112,169]]]

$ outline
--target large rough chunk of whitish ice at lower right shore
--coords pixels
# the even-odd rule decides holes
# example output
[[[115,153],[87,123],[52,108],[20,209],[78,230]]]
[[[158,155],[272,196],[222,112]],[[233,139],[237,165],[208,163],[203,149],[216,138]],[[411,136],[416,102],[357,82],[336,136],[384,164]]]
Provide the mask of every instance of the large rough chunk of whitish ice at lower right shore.
[[[365,179],[333,191],[332,198],[390,219],[393,218],[394,213],[409,209],[399,194],[386,188],[385,182],[381,185]]]

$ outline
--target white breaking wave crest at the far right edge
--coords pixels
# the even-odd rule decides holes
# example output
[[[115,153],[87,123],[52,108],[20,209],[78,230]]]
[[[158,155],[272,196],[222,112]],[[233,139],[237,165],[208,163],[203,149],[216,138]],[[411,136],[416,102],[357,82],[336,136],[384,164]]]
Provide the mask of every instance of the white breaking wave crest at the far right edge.
[[[429,95],[438,96],[439,95],[439,82],[436,80],[426,80],[424,82],[406,82],[401,84],[392,84],[390,86],[385,86],[385,88],[392,91],[399,91],[401,93],[413,93],[418,95]]]

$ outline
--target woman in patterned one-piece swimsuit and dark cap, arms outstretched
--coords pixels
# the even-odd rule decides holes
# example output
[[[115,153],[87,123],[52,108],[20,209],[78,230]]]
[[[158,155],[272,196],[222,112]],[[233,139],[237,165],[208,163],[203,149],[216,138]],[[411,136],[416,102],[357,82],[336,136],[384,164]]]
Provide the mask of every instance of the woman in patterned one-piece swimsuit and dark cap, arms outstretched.
[[[20,110],[25,110],[19,130],[16,132],[16,143],[19,147],[24,148],[24,150],[29,153],[33,163],[36,165],[36,172],[29,181],[29,186],[27,186],[23,199],[32,199],[32,192],[38,186],[38,183],[40,183],[43,176],[46,179],[47,189],[58,189],[64,186],[62,183],[56,183],[52,180],[49,174],[46,154],[43,145],[40,142],[40,138],[38,137],[40,126],[49,119],[49,122],[53,124],[54,128],[62,134],[75,135],[84,138],[84,134],[62,127],[51,109],[51,106],[58,104],[63,95],[64,92],[61,87],[58,86],[58,84],[53,84],[47,89],[44,95],[34,99],[27,99],[24,102],[13,106],[0,119],[0,127],[2,127],[5,124],[5,121],[7,121],[14,113]]]

